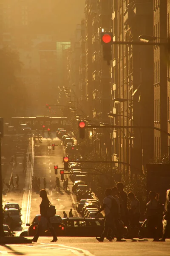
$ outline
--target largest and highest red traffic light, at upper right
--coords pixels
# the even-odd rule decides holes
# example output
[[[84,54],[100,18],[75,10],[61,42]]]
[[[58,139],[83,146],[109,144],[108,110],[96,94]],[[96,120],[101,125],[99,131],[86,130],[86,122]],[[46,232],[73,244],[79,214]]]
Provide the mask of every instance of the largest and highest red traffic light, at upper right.
[[[103,59],[107,61],[107,64],[110,65],[112,57],[111,45],[113,44],[113,35],[111,32],[102,32],[100,34],[101,44],[103,46]]]

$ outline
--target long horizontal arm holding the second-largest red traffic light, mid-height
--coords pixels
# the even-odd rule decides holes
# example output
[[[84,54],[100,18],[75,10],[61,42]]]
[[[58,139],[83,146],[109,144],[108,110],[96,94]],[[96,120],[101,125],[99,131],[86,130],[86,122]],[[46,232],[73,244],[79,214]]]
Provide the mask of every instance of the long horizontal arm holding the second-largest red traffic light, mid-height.
[[[157,131],[161,131],[161,132],[163,132],[163,133],[165,133],[165,134],[167,134],[168,136],[170,136],[170,133],[169,132],[167,132],[167,131],[164,131],[164,130],[162,130],[162,129],[160,129],[160,128],[157,128],[157,127],[154,127],[154,126],[133,126],[133,125],[131,125],[131,126],[124,126],[124,125],[106,125],[106,126],[101,126],[101,125],[99,125],[99,126],[97,126],[97,125],[86,125],[85,126],[85,128],[138,128],[138,129],[152,129],[152,130],[157,130]]]

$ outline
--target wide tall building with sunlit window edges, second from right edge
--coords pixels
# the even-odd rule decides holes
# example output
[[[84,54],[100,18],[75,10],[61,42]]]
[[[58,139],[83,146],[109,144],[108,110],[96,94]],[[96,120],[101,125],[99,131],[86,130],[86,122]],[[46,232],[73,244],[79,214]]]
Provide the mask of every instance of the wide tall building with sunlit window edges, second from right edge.
[[[153,35],[153,1],[113,0],[113,41],[138,41],[139,35]],[[113,123],[122,126],[153,127],[153,47],[113,46]],[[120,104],[113,101],[121,98]],[[125,172],[139,173],[153,157],[153,130],[122,128],[113,131],[113,160]]]

